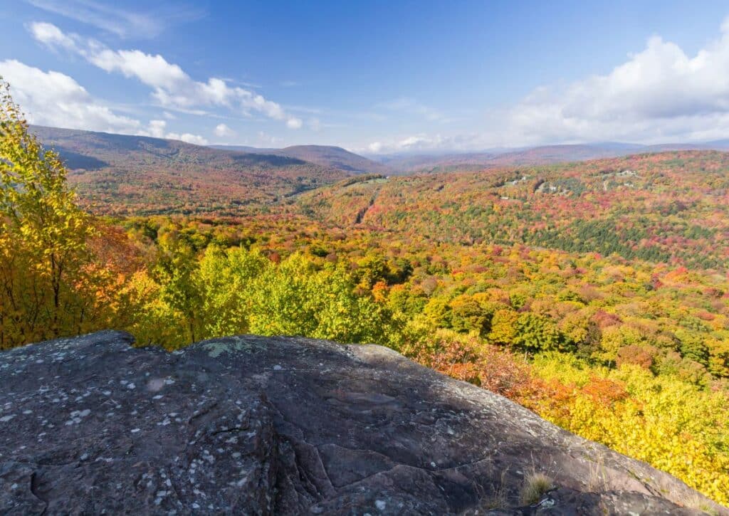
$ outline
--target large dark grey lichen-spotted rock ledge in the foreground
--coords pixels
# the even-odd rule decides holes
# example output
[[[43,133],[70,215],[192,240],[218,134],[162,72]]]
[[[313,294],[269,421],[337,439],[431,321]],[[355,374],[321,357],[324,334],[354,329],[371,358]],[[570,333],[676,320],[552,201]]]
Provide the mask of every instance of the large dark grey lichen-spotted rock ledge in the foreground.
[[[99,332],[0,353],[1,514],[695,514],[668,474],[387,348]],[[534,504],[525,478],[552,488]],[[714,512],[724,509],[714,506]]]

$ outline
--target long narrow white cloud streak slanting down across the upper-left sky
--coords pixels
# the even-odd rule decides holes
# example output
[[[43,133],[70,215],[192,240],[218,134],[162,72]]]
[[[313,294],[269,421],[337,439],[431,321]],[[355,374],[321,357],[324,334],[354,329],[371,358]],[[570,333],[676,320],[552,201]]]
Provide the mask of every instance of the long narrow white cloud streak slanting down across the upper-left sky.
[[[263,95],[231,86],[216,77],[207,82],[195,81],[180,66],[169,63],[162,55],[147,54],[141,50],[112,50],[94,40],[64,34],[51,23],[31,23],[28,30],[36,41],[47,47],[75,52],[102,70],[139,80],[152,89],[152,98],[165,109],[205,114],[207,108],[222,107],[236,109],[244,115],[257,112],[286,122],[286,126],[293,129],[302,125],[301,120],[286,114],[281,105]]]

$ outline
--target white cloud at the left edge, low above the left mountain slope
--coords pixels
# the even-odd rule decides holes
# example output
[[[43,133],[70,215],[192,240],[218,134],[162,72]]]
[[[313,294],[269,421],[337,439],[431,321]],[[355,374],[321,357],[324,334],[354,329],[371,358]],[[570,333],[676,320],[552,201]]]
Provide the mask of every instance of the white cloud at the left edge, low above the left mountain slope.
[[[136,133],[141,128],[139,120],[114,113],[66,74],[4,60],[0,75],[9,82],[28,122],[112,133]]]

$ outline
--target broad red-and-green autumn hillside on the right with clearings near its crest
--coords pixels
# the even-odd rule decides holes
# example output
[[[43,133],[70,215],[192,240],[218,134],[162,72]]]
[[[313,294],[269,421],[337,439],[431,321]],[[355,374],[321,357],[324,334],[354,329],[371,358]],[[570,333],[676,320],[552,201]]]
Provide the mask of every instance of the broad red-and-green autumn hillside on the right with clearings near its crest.
[[[303,213],[471,245],[524,243],[700,269],[729,265],[729,154],[664,152],[391,179],[301,196]]]

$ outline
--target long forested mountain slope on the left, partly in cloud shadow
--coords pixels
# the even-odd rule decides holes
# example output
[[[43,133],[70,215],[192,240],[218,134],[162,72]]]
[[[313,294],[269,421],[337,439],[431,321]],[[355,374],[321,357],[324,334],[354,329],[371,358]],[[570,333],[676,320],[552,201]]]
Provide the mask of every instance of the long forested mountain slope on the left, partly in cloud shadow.
[[[297,157],[143,136],[32,130],[61,155],[81,202],[97,214],[236,215],[351,175]]]

